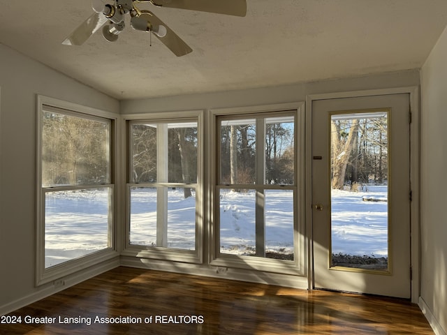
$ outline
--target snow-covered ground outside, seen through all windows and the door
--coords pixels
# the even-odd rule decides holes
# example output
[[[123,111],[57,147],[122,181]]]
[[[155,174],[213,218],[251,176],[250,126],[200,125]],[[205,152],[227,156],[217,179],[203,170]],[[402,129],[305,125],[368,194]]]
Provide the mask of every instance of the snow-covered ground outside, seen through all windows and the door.
[[[193,192],[193,195],[194,192]],[[388,203],[362,201],[386,198],[386,186],[368,186],[358,193],[332,191],[332,253],[386,256]],[[293,193],[265,193],[267,251],[293,253]],[[108,246],[108,192],[47,193],[45,266],[57,265]],[[251,255],[255,247],[255,193],[221,190],[221,253]],[[182,188],[168,191],[168,247],[195,248],[195,197],[184,199]],[[131,244],[156,245],[156,189],[131,192]]]

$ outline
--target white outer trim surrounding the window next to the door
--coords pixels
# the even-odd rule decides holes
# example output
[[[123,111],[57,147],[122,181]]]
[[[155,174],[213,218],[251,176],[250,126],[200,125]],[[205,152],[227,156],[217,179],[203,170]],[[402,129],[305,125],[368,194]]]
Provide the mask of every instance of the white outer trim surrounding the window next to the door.
[[[240,255],[225,255],[219,251],[219,232],[218,232],[218,211],[217,199],[219,195],[219,187],[217,186],[217,152],[214,150],[217,146],[217,135],[213,130],[217,127],[217,119],[221,116],[237,116],[239,114],[260,114],[264,112],[284,112],[295,111],[297,125],[298,140],[298,156],[295,157],[297,171],[296,184],[298,187],[297,198],[295,200],[295,211],[297,214],[296,221],[298,221],[298,229],[295,230],[294,237],[294,260],[293,261],[279,261],[269,258],[256,258],[251,256]],[[274,272],[279,274],[293,274],[296,276],[307,276],[307,234],[305,221],[305,103],[280,103],[274,105],[260,105],[250,107],[230,107],[210,110],[209,120],[209,138],[210,145],[208,147],[207,156],[210,158],[210,172],[209,172],[209,187],[210,187],[210,231],[209,238],[210,246],[208,248],[208,258],[210,265],[217,267],[236,267],[241,269],[252,269],[256,271]],[[237,188],[237,185],[234,186]],[[254,185],[253,188],[256,188]]]

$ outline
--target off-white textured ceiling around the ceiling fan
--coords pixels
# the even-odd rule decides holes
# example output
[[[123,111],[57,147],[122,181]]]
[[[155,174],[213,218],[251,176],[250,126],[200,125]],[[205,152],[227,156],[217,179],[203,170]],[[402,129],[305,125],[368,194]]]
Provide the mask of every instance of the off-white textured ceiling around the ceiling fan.
[[[0,43],[118,99],[419,68],[447,24],[446,0],[247,0],[247,17],[141,3],[192,47],[175,57],[129,18],[115,43],[61,45],[90,0],[1,2]]]

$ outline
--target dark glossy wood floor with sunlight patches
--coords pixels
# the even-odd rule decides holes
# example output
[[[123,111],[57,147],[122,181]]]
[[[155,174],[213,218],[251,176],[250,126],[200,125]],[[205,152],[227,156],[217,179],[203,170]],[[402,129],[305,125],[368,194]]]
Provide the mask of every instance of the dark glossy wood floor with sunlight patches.
[[[400,299],[127,267],[9,316],[21,323],[0,324],[0,334],[434,334],[418,306]]]

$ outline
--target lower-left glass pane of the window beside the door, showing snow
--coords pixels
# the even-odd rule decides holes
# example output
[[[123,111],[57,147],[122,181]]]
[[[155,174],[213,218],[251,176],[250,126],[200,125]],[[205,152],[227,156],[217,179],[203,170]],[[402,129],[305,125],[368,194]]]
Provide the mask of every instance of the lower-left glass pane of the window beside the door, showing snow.
[[[220,249],[232,255],[256,253],[256,191],[221,189]]]

